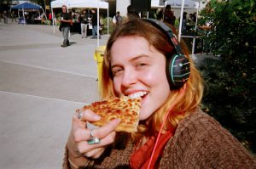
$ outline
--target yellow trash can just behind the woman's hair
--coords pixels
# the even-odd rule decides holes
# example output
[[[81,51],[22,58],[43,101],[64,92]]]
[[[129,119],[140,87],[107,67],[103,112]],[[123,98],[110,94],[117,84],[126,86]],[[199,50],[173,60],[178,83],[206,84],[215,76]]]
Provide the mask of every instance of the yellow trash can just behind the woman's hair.
[[[102,63],[103,63],[103,57],[105,53],[106,46],[100,46],[96,48],[94,59],[97,62],[97,76],[98,76],[98,91],[99,93],[102,93]]]

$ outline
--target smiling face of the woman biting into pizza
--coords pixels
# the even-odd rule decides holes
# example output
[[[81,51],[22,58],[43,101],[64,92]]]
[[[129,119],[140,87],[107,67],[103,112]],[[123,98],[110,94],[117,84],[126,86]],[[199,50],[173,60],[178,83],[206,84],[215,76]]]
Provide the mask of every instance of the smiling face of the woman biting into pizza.
[[[146,120],[165,103],[170,87],[166,78],[166,57],[143,37],[119,37],[111,48],[114,91],[141,97],[140,120]]]

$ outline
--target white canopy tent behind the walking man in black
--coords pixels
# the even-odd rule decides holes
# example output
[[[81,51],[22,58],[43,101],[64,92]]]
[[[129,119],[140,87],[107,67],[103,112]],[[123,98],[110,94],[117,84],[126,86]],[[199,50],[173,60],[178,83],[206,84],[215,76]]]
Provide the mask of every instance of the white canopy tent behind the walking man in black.
[[[108,9],[108,3],[102,2],[100,0],[55,0],[51,2],[50,5],[51,5],[51,8],[61,8],[62,5],[66,5],[67,9],[68,8],[97,8],[97,20],[98,20],[97,27],[99,27],[99,19],[100,19],[99,9],[100,8]],[[108,28],[109,28],[109,22],[108,22]],[[97,39],[98,39],[97,43],[99,46],[99,29],[97,30]]]

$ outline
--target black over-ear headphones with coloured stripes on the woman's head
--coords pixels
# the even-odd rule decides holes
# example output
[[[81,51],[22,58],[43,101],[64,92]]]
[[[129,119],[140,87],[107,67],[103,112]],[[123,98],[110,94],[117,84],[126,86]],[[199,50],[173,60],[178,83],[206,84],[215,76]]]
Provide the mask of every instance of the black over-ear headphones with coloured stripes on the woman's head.
[[[170,87],[179,88],[183,87],[183,84],[189,80],[190,75],[190,63],[189,59],[183,54],[179,43],[177,42],[177,37],[172,33],[170,27],[168,27],[163,22],[154,19],[142,19],[154,25],[160,31],[163,31],[171,42],[175,49],[175,54],[170,58],[167,57],[166,61],[166,75]]]

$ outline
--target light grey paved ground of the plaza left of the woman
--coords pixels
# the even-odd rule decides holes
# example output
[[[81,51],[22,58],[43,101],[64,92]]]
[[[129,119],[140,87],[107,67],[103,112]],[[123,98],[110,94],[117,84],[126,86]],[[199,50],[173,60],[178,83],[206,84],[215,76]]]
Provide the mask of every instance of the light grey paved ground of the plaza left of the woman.
[[[61,168],[74,110],[98,99],[96,40],[62,40],[49,25],[0,22],[1,168]]]

